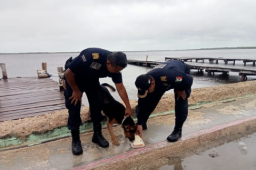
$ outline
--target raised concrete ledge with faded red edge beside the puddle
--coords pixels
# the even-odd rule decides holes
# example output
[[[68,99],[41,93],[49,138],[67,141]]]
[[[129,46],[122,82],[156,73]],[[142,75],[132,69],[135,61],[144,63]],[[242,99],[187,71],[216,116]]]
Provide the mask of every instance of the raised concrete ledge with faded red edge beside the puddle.
[[[233,135],[236,133],[249,131],[256,128],[256,116],[243,118],[241,120],[229,122],[226,124],[214,126],[213,128],[199,130],[195,133],[190,133],[182,137],[175,143],[167,141],[159,142],[154,145],[149,145],[144,148],[135,149],[125,154],[113,156],[106,159],[101,159],[85,166],[72,168],[73,170],[83,169],[126,169],[138,166],[144,160],[156,160],[175,152],[184,151],[191,148],[198,148],[207,142]]]

